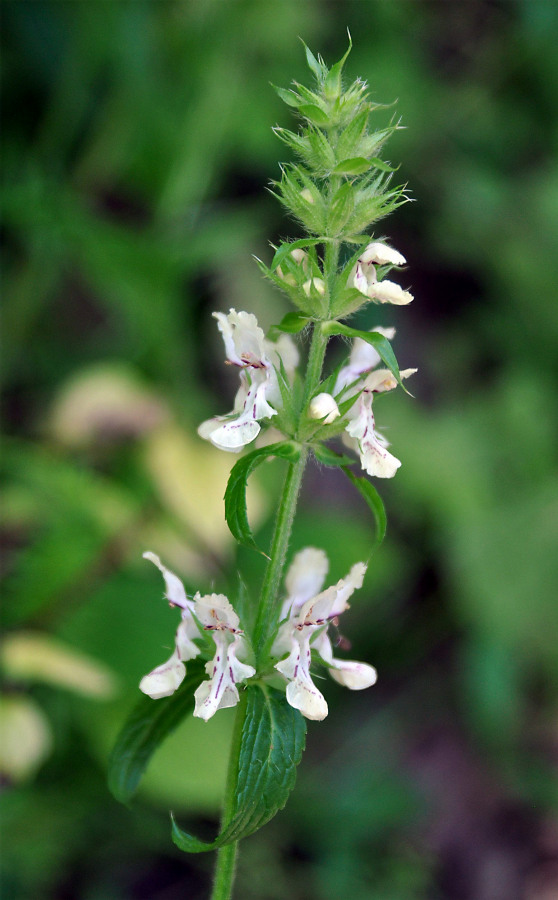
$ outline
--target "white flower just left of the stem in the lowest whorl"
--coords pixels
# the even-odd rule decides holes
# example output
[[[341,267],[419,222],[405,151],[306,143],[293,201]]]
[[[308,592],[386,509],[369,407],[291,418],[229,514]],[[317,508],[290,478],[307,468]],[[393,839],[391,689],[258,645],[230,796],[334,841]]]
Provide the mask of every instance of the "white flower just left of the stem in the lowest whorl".
[[[256,674],[253,666],[237,659],[237,652],[245,652],[245,642],[239,630],[238,616],[224,594],[196,594],[196,615],[204,630],[211,631],[215,656],[206,664],[209,681],[202,681],[194,697],[194,715],[207,722],[218,709],[238,703],[237,684]]]

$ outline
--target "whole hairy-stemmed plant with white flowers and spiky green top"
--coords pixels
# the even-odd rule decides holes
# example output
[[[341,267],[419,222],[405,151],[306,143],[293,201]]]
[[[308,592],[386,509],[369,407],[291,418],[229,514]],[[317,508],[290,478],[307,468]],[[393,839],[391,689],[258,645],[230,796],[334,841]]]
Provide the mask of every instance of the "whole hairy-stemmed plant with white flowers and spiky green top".
[[[225,517],[239,543],[256,548],[246,510],[250,474],[266,459],[287,463],[267,569],[250,622],[241,622],[223,594],[188,597],[159,557],[144,553],[160,569],[166,597],[180,610],[180,621],[170,658],[140,683],[146,697],[117,741],[110,784],[119,799],[129,800],[149,757],[183,716],[193,712],[207,721],[220,709],[236,706],[219,834],[203,842],[174,820],[172,824],[173,840],[182,850],[218,849],[213,900],[231,896],[238,842],[284,806],[302,755],[306,720],[327,716],[327,702],[312,677],[314,667],[324,666],[350,690],[376,681],[368,663],[335,656],[330,636],[349,608],[349,598],[362,588],[366,563],[355,561],[344,578],[323,589],[327,557],[308,547],[294,557],[284,577],[310,454],[346,474],[368,503],[376,540],[382,540],[385,512],[366,475],[392,478],[401,463],[376,429],[374,397],[402,386],[416,371],[399,370],[390,344],[393,328],[368,332],[341,321],[367,303],[405,305],[413,299],[386,277],[405,265],[403,255],[366,230],[406,200],[404,188],[392,185],[394,169],[378,155],[398,125],[369,128],[377,107],[368,99],[366,84],[358,79],[345,89],[342,84],[349,51],[350,46],[328,69],[306,48],[314,87],[276,89],[301,127],[297,132],[274,129],[299,161],[282,167],[273,190],[306,237],[282,242],[269,265],[258,264],[296,311],[267,337],[252,313],[214,313],[240,386],[232,411],[203,422],[198,433],[231,453],[258,441],[232,467],[225,494]],[[300,353],[293,337],[301,332],[311,333],[303,378],[297,373]],[[352,349],[344,365],[324,376],[326,348],[334,335],[350,338]],[[269,426],[276,435],[272,443],[263,434]],[[355,458],[329,446],[339,437],[356,453],[366,475],[352,470]],[[338,643],[342,649],[343,642]]]

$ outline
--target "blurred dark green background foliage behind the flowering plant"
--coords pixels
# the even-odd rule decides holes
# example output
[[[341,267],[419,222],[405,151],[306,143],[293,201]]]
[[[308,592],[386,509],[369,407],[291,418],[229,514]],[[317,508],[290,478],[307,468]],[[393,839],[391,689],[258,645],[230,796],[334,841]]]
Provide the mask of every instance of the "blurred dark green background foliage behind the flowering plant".
[[[378,685],[327,684],[297,790],[244,842],[243,900],[558,896],[558,6],[552,0],[4,0],[4,900],[203,900],[228,712],[186,723],[132,810],[106,758],[189,590],[252,591],[222,518],[231,458],[196,425],[236,385],[211,319],[286,311],[251,258],[296,237],[266,191],[308,81],[302,37],[406,130],[416,202],[382,223],[409,261],[394,324],[415,399],[378,402],[403,466],[345,632]],[[378,112],[382,116],[391,113]],[[384,120],[382,120],[384,121]],[[384,232],[379,232],[384,233]],[[332,358],[335,356],[332,349]],[[339,353],[339,348],[337,349]],[[250,504],[270,533],[281,476]],[[332,577],[371,523],[306,478],[293,549]]]

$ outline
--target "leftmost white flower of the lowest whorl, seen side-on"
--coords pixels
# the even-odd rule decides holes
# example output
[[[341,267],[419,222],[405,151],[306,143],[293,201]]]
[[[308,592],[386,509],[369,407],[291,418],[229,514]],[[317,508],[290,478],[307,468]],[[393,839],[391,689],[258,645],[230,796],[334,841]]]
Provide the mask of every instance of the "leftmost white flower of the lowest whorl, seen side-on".
[[[140,690],[153,700],[161,697],[169,697],[180,687],[186,668],[184,662],[198,656],[200,650],[194,644],[195,638],[199,638],[199,628],[192,615],[194,603],[188,600],[184,585],[180,578],[166,568],[155,553],[144,553],[144,559],[154,563],[162,572],[165,579],[166,598],[171,606],[178,606],[182,610],[182,618],[174,641],[174,652],[169,659],[157,666],[140,681]]]

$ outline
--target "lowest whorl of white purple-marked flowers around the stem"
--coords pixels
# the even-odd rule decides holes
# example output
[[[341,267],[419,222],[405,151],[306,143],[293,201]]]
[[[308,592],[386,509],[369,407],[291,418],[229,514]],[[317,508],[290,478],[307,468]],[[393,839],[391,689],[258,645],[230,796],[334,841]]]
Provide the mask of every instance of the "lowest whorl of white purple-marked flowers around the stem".
[[[215,655],[206,664],[210,676],[196,689],[194,716],[207,721],[218,709],[235,706],[239,700],[240,682],[256,675],[256,669],[242,662],[249,647],[239,628],[239,619],[223,594],[201,596],[188,600],[180,579],[167,569],[154,553],[144,553],[145,559],[160,569],[166,585],[166,597],[171,606],[182,610],[175,638],[175,650],[167,662],[142,678],[140,689],[157,700],[173,694],[182,683],[184,663],[201,653],[194,640],[204,632],[211,632]],[[357,563],[346,578],[321,591],[328,570],[323,550],[308,547],[298,553],[287,573],[288,597],[283,603],[281,623],[271,649],[271,657],[286,658],[274,664],[287,680],[287,701],[308,719],[324,719],[327,703],[310,675],[312,650],[319,661],[328,667],[331,676],[351,690],[362,690],[376,681],[376,670],[366,663],[336,659],[333,656],[328,627],[337,625],[338,616],[349,608],[348,598],[362,586],[366,566]],[[321,592],[320,592],[321,591]],[[266,666],[269,673],[269,667]]]

